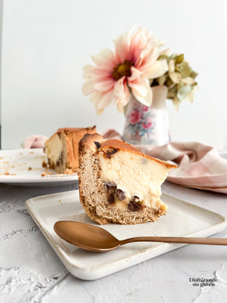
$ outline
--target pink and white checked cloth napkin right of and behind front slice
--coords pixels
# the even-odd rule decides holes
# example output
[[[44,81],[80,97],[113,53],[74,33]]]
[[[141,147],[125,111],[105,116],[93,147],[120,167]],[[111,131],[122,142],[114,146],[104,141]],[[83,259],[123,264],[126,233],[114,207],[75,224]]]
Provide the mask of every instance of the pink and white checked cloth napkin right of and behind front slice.
[[[121,139],[113,129],[105,131],[106,139]],[[162,146],[135,145],[149,156],[171,160],[178,165],[168,173],[167,180],[203,190],[227,194],[227,160],[215,148],[199,142],[171,142]]]

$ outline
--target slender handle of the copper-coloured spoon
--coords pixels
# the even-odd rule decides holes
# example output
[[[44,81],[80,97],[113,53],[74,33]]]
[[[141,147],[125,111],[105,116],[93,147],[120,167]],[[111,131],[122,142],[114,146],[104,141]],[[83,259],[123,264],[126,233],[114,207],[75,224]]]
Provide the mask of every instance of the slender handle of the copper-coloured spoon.
[[[191,237],[135,237],[121,240],[121,245],[131,242],[165,242],[165,243],[187,243],[187,244],[208,244],[227,245],[227,239],[223,238],[191,238]]]

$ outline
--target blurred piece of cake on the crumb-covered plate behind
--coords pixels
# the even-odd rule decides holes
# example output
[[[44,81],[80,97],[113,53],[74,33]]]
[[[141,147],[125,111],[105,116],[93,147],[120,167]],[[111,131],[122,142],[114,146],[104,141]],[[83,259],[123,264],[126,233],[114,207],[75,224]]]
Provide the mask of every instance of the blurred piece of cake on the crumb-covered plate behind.
[[[49,168],[58,173],[76,172],[78,169],[78,143],[85,134],[96,133],[95,126],[87,128],[60,128],[46,142]]]

